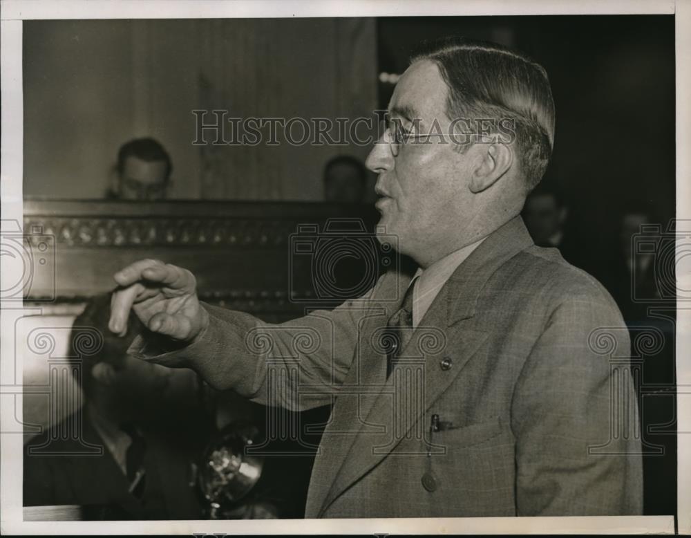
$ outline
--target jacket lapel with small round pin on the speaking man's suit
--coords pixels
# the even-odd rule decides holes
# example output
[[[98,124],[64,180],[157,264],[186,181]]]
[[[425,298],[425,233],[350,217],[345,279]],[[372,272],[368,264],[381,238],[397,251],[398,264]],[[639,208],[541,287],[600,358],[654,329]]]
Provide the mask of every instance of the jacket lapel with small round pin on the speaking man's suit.
[[[339,454],[338,465],[330,467],[330,472],[321,482],[319,492],[315,491],[312,495],[310,484],[312,499],[308,497],[309,510],[305,512],[305,517],[321,516],[352,483],[388,456],[413,427],[418,429],[426,427],[421,420],[426,411],[453,384],[468,360],[489,337],[489,332],[478,327],[476,320],[473,319],[480,292],[487,280],[503,263],[531,244],[532,240],[522,220],[520,217],[515,217],[490,234],[468,259],[461,263],[446,281],[442,290],[439,290],[439,294],[418,324],[406,349],[401,353],[401,358],[407,358],[409,361],[405,363],[405,368],[413,373],[410,377],[417,377],[420,380],[422,391],[413,391],[419,395],[413,395],[420,400],[419,402],[410,401],[411,395],[408,394],[410,386],[401,386],[402,383],[392,382],[392,380],[388,384],[382,382],[386,380],[384,353],[376,353],[375,349],[361,353],[362,379],[377,382],[381,388],[375,396],[367,398],[368,402],[371,402],[370,405],[361,406],[359,415],[361,418],[359,422],[363,423],[361,433],[351,434],[343,439],[343,450]],[[402,293],[399,293],[400,297]],[[387,310],[387,314],[390,315],[396,308],[399,308],[399,304],[393,309],[388,308],[390,313]],[[363,336],[371,341],[372,336],[386,325],[387,319],[386,315],[372,318],[372,321],[363,327],[365,329]],[[361,341],[360,348],[362,344]],[[444,358],[452,361],[451,369],[442,369],[441,360]],[[392,375],[392,378],[395,378],[395,375],[397,372]],[[397,398],[408,398],[407,409],[410,409],[412,405],[415,416],[405,417],[395,412],[395,409],[399,407]],[[334,407],[334,410],[336,407],[338,405]],[[346,406],[343,408],[346,410]],[[342,414],[337,420],[343,425],[348,423],[348,415],[350,415],[350,425],[352,425],[352,417],[355,416],[356,411],[357,407],[350,405],[347,407],[347,413]],[[363,417],[366,418],[362,420]],[[368,428],[373,429],[372,434],[363,434],[363,430]],[[377,434],[377,430],[381,433]],[[330,461],[330,463],[334,462]],[[312,476],[314,478],[319,475],[313,472]],[[333,481],[331,481],[332,478]],[[323,497],[325,492],[325,497]],[[315,511],[319,498],[324,499],[321,510]]]

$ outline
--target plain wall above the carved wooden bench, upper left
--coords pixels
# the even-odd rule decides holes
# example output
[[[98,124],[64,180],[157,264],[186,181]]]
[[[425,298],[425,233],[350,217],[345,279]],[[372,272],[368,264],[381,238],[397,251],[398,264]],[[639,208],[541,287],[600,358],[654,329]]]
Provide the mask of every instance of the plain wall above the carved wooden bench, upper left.
[[[153,136],[178,199],[322,199],[324,163],[368,147],[195,146],[194,109],[371,115],[374,19],[26,21],[24,195],[100,198],[117,149]]]

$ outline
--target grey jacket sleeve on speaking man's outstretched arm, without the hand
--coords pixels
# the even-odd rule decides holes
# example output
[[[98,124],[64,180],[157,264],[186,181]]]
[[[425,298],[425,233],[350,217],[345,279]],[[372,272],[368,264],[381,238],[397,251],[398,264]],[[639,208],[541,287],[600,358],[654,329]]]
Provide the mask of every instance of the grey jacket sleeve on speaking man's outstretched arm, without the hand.
[[[303,411],[332,402],[354,358],[369,303],[354,299],[281,324],[202,304],[209,325],[191,344],[162,352],[160,340],[140,335],[129,353],[167,367],[191,368],[215,389]]]

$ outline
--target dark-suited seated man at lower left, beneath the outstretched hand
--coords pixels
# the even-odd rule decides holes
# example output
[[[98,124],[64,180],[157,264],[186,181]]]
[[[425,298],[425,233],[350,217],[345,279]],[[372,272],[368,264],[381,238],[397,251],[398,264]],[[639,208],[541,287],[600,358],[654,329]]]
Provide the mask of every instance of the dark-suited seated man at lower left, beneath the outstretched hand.
[[[169,369],[126,354],[141,328],[134,316],[127,338],[108,333],[110,300],[91,299],[75,319],[70,355],[82,360],[84,407],[25,447],[24,505],[107,505],[122,519],[200,519],[192,463],[210,436],[208,423],[189,396],[166,398]],[[79,339],[94,330],[102,348],[84,355]],[[57,435],[72,431],[78,414],[81,439],[103,447],[102,454],[79,454],[79,440]],[[54,455],[26,450],[47,440]]]

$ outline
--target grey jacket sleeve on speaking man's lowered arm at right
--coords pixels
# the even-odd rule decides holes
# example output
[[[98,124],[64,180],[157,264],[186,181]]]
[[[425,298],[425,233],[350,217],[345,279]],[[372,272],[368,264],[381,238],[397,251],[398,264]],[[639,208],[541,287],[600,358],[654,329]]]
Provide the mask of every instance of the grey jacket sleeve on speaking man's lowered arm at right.
[[[512,401],[518,515],[643,511],[630,339],[604,291],[553,310]]]

